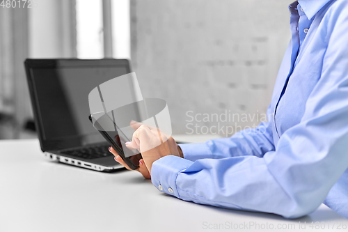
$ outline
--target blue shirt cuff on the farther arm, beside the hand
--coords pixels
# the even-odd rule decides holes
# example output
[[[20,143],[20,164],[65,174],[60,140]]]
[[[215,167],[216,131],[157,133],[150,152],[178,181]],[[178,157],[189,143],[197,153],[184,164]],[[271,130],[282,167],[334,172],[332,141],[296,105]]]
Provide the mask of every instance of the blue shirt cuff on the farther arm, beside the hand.
[[[184,159],[196,161],[212,157],[212,151],[209,150],[207,144],[178,144],[184,155]]]

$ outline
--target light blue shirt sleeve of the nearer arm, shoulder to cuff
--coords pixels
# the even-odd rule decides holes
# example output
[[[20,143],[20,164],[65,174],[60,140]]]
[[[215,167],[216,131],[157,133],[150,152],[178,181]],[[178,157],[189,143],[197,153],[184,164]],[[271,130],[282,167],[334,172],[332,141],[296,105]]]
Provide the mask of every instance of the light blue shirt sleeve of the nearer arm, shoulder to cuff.
[[[340,3],[347,5],[346,1]],[[348,17],[329,17],[326,20],[335,24],[327,26],[322,76],[308,98],[301,122],[284,132],[276,150],[263,157],[244,155],[194,162],[162,157],[152,166],[152,183],[184,201],[271,212],[287,218],[307,215],[319,207],[348,168]],[[230,145],[225,140],[219,143]],[[243,151],[237,146],[216,151],[214,144],[202,146],[212,154]]]

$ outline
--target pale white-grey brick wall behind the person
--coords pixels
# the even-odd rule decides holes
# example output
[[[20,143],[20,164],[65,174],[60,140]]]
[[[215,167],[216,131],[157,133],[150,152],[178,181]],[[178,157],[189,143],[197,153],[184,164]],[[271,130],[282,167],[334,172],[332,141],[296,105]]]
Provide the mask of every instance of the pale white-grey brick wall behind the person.
[[[290,41],[288,3],[131,1],[133,69],[146,98],[168,102],[173,133],[227,136],[264,119]]]

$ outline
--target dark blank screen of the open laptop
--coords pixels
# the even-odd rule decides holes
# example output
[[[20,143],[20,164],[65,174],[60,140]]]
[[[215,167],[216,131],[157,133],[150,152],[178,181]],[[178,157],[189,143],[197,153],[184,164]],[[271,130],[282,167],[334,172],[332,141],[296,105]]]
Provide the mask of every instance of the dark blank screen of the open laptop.
[[[110,60],[109,60],[110,61]],[[115,60],[116,61],[116,60]],[[44,141],[79,141],[60,148],[104,141],[90,123],[88,94],[109,79],[130,72],[128,62],[103,65],[103,62],[73,60],[30,68],[40,137]],[[117,90],[115,90],[117,91]],[[84,139],[86,141],[81,141]],[[68,145],[69,144],[69,145]]]

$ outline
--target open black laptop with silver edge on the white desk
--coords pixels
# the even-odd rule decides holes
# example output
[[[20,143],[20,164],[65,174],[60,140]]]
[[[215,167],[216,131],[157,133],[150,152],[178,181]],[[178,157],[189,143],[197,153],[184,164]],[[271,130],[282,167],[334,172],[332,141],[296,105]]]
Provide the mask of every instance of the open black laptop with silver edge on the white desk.
[[[131,72],[125,59],[26,59],[35,126],[50,160],[95,171],[114,171],[109,145],[89,121],[88,93]]]

